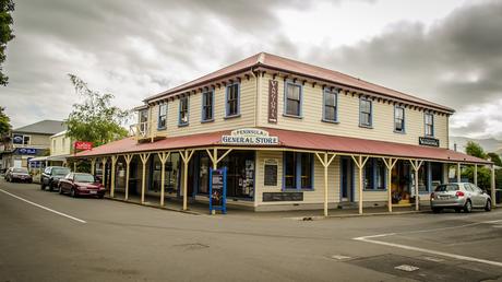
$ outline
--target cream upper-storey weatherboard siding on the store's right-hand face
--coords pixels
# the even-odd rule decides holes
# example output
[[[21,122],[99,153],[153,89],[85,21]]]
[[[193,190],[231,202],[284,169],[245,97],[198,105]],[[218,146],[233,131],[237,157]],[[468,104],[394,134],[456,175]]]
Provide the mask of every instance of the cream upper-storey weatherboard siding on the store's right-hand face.
[[[322,85],[306,83],[302,86],[301,118],[284,116],[284,78],[276,77],[278,83],[277,122],[268,122],[268,80],[272,75],[261,78],[260,115],[258,125],[296,131],[345,136],[370,140],[391,141],[418,145],[418,138],[425,134],[423,111],[405,109],[405,133],[394,132],[394,105],[378,99],[372,101],[372,128],[359,126],[359,96],[342,91],[338,94],[338,122],[322,121],[323,90]],[[441,148],[447,148],[447,116],[434,115],[434,138],[440,140]]]

